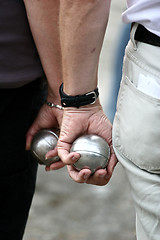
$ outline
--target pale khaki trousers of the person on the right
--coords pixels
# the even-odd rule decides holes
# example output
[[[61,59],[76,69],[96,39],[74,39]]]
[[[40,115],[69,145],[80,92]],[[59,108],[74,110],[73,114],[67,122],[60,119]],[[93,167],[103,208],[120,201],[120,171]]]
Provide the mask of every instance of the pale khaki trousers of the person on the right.
[[[160,47],[136,42],[135,30],[125,51],[113,146],[130,182],[137,240],[160,240],[160,99],[151,91],[160,87]]]

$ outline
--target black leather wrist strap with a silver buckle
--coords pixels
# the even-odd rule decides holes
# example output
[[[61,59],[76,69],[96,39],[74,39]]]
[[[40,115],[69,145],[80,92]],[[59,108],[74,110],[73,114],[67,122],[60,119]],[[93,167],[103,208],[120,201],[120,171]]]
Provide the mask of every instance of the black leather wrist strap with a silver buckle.
[[[99,96],[98,88],[83,95],[69,96],[63,92],[63,83],[59,88],[62,107],[76,107],[94,104]]]

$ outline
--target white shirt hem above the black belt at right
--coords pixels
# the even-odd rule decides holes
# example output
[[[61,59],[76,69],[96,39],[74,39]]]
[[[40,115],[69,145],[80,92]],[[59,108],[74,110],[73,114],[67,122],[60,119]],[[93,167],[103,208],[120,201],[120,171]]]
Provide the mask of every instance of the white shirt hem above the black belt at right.
[[[125,23],[137,22],[160,36],[160,0],[127,0],[127,10],[122,14]]]

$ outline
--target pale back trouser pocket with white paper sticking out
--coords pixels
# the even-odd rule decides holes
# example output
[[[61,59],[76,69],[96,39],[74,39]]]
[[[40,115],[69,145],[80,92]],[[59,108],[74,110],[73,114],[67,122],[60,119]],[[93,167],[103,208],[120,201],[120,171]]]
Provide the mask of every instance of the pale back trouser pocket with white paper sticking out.
[[[114,147],[138,167],[160,173],[160,100],[122,79],[113,123]]]

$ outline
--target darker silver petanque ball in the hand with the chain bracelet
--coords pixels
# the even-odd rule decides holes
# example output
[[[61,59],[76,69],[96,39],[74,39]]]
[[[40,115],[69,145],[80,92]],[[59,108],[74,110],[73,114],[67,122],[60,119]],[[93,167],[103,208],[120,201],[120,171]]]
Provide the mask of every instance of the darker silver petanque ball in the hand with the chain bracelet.
[[[50,166],[52,163],[59,161],[58,156],[45,159],[46,153],[56,147],[57,140],[57,134],[48,129],[42,129],[35,134],[31,143],[31,153],[40,164]]]

